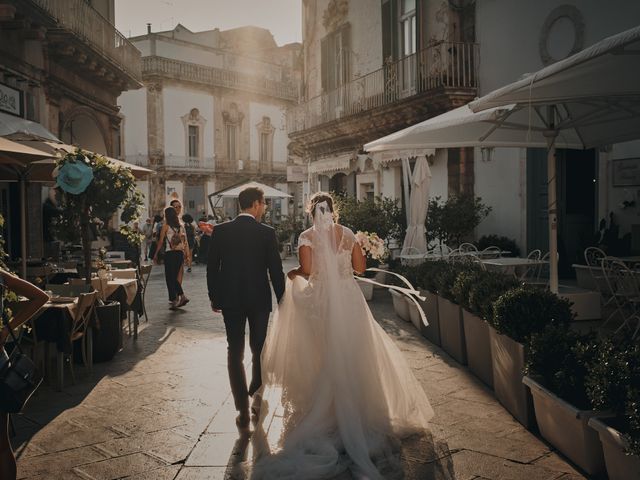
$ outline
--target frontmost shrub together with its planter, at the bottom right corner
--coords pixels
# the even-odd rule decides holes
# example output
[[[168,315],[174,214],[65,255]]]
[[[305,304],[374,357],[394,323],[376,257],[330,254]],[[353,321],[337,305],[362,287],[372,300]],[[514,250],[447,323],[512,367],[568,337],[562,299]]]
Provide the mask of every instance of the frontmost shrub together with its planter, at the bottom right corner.
[[[637,339],[602,342],[586,379],[587,394],[598,410],[614,418],[591,418],[600,437],[611,480],[637,478],[640,472],[640,345]],[[635,475],[635,477],[634,477]]]

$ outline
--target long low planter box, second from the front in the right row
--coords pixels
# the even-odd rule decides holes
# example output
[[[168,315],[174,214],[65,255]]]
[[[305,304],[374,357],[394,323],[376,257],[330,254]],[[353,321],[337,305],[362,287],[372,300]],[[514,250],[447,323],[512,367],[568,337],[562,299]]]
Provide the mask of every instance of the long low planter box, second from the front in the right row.
[[[531,377],[524,377],[522,383],[531,389],[540,435],[587,474],[603,474],[602,444],[587,425],[598,412],[577,409]]]

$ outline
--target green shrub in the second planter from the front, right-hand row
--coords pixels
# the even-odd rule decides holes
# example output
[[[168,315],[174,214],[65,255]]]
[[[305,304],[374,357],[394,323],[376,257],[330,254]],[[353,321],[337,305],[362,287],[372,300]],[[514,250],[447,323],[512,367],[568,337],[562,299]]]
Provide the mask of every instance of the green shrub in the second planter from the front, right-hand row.
[[[598,353],[594,334],[581,335],[567,324],[550,324],[533,333],[527,344],[527,375],[540,375],[543,384],[581,410],[591,408],[586,377]]]

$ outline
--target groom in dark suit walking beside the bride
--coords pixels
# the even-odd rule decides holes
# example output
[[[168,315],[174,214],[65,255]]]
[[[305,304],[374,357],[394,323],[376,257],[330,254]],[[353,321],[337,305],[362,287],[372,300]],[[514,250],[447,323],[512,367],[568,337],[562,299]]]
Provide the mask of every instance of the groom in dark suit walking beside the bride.
[[[266,202],[260,188],[240,192],[242,213],[213,229],[207,262],[207,287],[214,312],[222,311],[227,331],[227,367],[236,410],[236,424],[249,426],[249,396],[262,385],[260,354],[271,312],[271,288],[278,301],[284,294],[284,273],[275,230],[260,223]],[[268,273],[268,275],[267,275]],[[251,384],[247,388],[243,358],[244,332],[249,322],[252,355]],[[260,398],[253,405],[258,413]]]

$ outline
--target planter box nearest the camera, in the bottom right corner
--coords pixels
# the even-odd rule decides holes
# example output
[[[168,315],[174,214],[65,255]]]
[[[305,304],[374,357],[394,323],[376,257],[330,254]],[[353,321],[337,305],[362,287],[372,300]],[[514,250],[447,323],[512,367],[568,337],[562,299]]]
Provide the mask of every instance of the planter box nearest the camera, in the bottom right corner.
[[[589,426],[597,431],[600,436],[609,480],[638,478],[640,457],[624,453],[627,448],[627,442],[622,438],[620,432],[607,425],[604,419],[601,418],[589,419]]]

